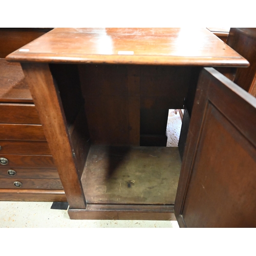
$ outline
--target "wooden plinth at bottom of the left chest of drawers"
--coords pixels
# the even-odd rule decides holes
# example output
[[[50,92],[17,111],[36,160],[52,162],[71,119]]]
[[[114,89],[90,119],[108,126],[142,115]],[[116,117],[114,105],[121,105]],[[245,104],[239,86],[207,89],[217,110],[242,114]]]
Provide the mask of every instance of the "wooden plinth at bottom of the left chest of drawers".
[[[0,189],[0,201],[67,202],[64,190]]]

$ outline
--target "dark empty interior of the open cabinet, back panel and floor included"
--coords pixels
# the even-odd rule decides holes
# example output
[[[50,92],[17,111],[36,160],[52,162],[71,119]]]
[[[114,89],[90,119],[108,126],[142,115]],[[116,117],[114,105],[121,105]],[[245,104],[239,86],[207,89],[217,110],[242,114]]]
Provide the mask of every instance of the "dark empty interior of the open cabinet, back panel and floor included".
[[[188,127],[181,131],[180,148],[166,147],[168,110],[184,109],[198,69],[102,64],[50,64],[50,69],[87,203],[173,205]]]

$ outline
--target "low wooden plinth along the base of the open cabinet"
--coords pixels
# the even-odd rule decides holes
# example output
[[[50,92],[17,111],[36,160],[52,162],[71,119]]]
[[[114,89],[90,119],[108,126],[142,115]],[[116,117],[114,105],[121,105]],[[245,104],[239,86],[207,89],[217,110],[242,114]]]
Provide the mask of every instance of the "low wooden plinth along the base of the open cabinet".
[[[73,220],[172,220],[175,221],[172,205],[93,205],[86,210],[69,209]]]

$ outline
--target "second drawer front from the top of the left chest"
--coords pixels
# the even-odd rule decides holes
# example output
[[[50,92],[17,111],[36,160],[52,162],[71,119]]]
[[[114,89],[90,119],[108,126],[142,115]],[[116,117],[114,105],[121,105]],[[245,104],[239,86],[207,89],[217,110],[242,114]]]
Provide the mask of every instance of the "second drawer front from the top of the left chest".
[[[42,126],[39,124],[0,124],[0,140],[46,141]]]

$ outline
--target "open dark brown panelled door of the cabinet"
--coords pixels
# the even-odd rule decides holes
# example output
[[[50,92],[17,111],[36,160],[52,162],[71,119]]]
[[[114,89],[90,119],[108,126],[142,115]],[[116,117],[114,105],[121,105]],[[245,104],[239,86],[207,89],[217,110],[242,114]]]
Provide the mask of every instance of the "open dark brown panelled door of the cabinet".
[[[200,74],[174,207],[180,227],[256,227],[256,98]]]

